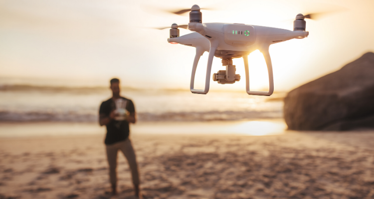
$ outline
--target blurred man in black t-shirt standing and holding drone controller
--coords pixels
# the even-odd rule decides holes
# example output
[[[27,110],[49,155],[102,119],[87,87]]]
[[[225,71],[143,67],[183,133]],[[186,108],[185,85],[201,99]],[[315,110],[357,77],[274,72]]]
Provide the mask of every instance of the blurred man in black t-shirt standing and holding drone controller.
[[[99,110],[100,126],[106,125],[107,134],[105,145],[109,163],[109,177],[112,184],[112,194],[117,194],[117,152],[121,150],[125,155],[134,184],[135,196],[140,197],[139,172],[135,152],[129,139],[129,123],[136,122],[135,107],[132,100],[120,96],[120,81],[110,80],[113,97],[101,103]]]

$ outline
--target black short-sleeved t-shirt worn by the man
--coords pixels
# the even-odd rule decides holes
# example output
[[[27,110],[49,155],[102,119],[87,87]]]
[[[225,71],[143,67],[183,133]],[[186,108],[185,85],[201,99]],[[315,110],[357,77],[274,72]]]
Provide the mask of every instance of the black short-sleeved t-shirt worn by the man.
[[[121,98],[127,101],[126,110],[130,113],[135,112],[133,101],[123,97]],[[99,114],[109,117],[110,112],[114,109],[116,109],[116,103],[113,99],[109,99],[101,103]],[[126,140],[129,137],[130,128],[127,120],[117,121],[112,119],[106,126],[107,135],[105,137],[105,144],[107,145]]]

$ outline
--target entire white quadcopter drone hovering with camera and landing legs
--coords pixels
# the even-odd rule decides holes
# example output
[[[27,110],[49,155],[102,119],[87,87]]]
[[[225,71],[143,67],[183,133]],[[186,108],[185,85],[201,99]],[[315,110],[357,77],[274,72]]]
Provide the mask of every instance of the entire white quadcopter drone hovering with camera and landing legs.
[[[181,10],[180,13],[189,11]],[[175,12],[177,13],[177,12]],[[218,71],[213,74],[213,81],[218,84],[234,84],[240,80],[240,75],[235,74],[235,65],[232,65],[233,58],[242,57],[245,67],[246,91],[248,95],[271,96],[274,91],[273,69],[269,54],[271,44],[287,41],[290,39],[302,39],[309,35],[305,31],[304,18],[310,16],[298,14],[294,21],[294,30],[285,30],[258,25],[246,25],[241,23],[202,23],[200,7],[193,5],[189,12],[189,23],[178,26],[173,23],[170,29],[169,43],[179,43],[196,48],[196,55],[193,61],[190,91],[194,94],[207,94],[209,91],[209,77],[213,57],[222,59],[222,66],[226,70]],[[179,27],[187,28],[193,33],[179,36]],[[162,29],[162,28],[161,28]],[[249,72],[248,72],[248,55],[259,50],[265,58],[269,73],[269,91],[250,91],[249,90]],[[197,63],[204,52],[209,52],[208,64],[206,68],[204,90],[194,89],[194,78]]]

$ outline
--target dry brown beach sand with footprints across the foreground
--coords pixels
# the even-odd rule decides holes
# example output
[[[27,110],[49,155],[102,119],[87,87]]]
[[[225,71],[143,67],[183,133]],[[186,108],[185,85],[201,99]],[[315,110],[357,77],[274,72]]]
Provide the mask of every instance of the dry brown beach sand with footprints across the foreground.
[[[0,199],[131,199],[119,153],[110,197],[104,134],[0,138]],[[132,134],[145,199],[374,199],[374,131]]]

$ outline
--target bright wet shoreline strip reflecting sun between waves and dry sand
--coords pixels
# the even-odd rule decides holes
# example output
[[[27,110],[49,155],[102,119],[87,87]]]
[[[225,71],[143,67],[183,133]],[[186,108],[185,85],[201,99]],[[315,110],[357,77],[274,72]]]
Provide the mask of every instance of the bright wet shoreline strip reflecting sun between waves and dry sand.
[[[130,125],[131,134],[228,134],[270,135],[286,129],[284,120],[261,119],[203,122],[137,122]],[[96,122],[0,122],[0,138],[24,136],[105,134],[105,126]]]

